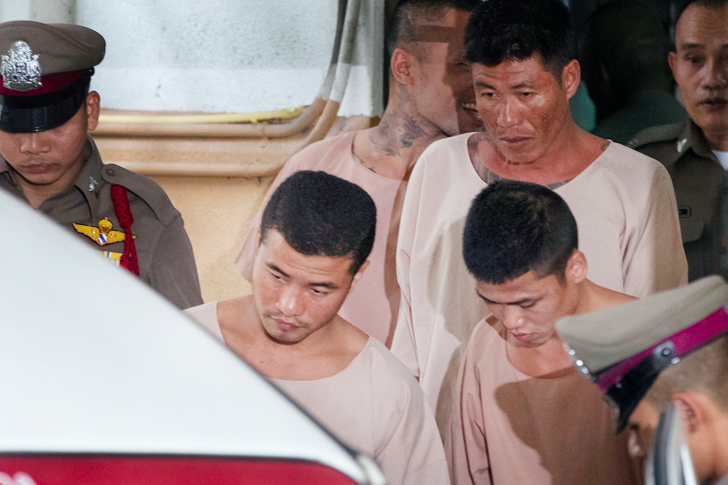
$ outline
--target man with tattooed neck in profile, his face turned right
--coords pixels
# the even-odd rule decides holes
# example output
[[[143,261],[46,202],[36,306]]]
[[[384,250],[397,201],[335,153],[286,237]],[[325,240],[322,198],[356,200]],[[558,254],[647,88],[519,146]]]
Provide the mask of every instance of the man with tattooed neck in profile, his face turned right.
[[[464,31],[478,0],[402,0],[387,37],[389,104],[376,127],[327,138],[291,157],[266,199],[298,170],[323,170],[365,189],[379,220],[371,265],[340,314],[387,344],[397,320],[400,289],[395,275],[400,207],[414,162],[432,141],[479,130]],[[262,207],[237,256],[250,280]]]

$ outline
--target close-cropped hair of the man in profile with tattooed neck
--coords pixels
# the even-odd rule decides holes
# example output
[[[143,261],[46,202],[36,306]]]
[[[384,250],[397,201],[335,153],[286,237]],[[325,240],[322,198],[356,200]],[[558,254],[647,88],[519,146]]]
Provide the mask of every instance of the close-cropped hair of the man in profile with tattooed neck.
[[[416,42],[417,25],[422,20],[435,22],[442,19],[447,9],[472,12],[480,0],[401,0],[397,2],[392,22],[389,24],[385,43],[387,53],[408,42]]]

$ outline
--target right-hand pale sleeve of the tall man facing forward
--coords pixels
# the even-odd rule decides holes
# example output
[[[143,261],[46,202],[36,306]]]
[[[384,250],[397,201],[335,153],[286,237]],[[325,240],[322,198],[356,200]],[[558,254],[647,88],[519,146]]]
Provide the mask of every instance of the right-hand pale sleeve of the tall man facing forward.
[[[675,191],[668,171],[657,166],[647,207],[629,233],[625,260],[625,293],[644,298],[687,284],[687,259],[680,235]]]

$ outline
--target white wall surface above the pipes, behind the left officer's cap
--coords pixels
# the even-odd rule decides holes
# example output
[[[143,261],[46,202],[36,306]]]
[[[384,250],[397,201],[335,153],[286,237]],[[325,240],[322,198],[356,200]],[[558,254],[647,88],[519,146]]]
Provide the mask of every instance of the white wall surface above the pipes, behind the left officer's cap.
[[[262,111],[311,103],[336,0],[76,0],[106,38],[92,87],[108,108]]]

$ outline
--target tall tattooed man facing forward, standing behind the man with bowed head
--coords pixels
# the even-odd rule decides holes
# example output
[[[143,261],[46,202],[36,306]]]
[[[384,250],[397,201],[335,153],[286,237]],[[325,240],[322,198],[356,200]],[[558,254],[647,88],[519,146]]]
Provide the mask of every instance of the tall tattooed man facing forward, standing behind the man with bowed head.
[[[419,376],[440,429],[459,350],[486,311],[461,248],[467,208],[491,182],[555,189],[577,220],[594,283],[638,297],[687,283],[665,168],[571,119],[579,63],[563,2],[482,2],[465,46],[486,132],[437,141],[423,152],[403,202],[396,254],[403,299],[392,353]]]

